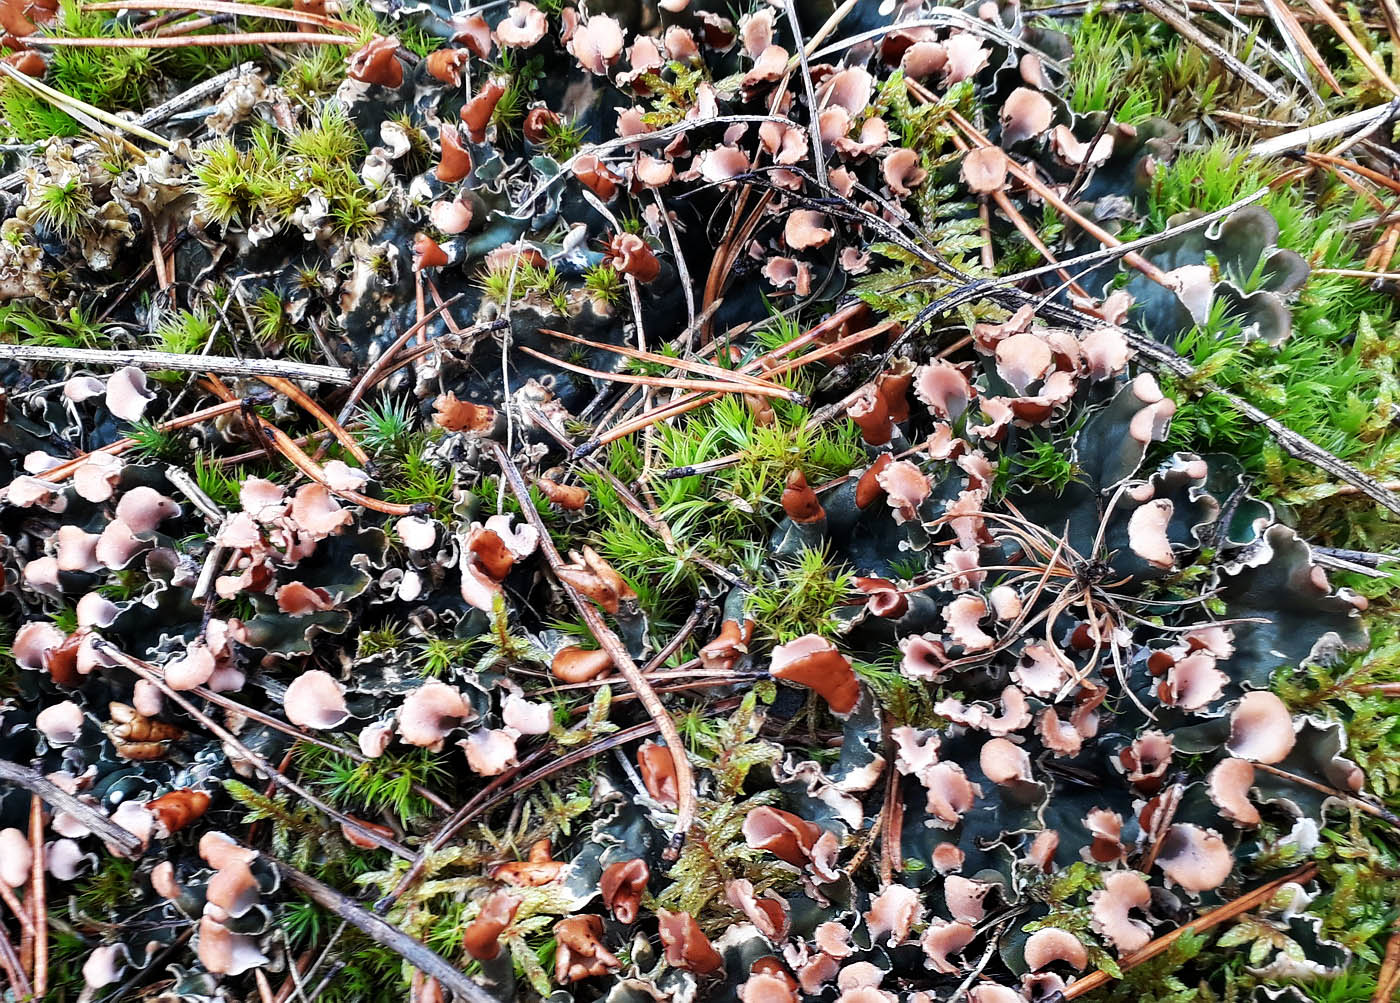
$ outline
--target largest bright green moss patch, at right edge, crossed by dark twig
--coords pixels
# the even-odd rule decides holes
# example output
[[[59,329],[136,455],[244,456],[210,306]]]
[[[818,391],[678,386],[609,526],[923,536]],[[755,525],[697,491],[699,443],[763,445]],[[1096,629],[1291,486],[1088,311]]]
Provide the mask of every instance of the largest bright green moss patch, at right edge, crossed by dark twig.
[[[1228,143],[1186,151],[1154,178],[1151,230],[1186,209],[1210,212],[1271,182],[1287,164],[1246,160]],[[1260,203],[1280,224],[1280,247],[1315,269],[1359,268],[1347,224],[1365,212],[1355,195],[1322,181],[1271,191]],[[1352,277],[1315,273],[1292,305],[1292,336],[1277,349],[1240,343],[1238,324],[1217,305],[1210,322],[1187,333],[1177,350],[1203,378],[1261,406],[1324,450],[1389,476],[1400,461],[1400,437],[1389,420],[1397,396],[1397,347],[1389,336],[1390,297]],[[1336,490],[1324,473],[1280,452],[1273,436],[1226,401],[1198,394],[1198,384],[1165,381],[1177,401],[1172,448],[1228,450],[1260,475],[1259,489],[1294,504]]]

